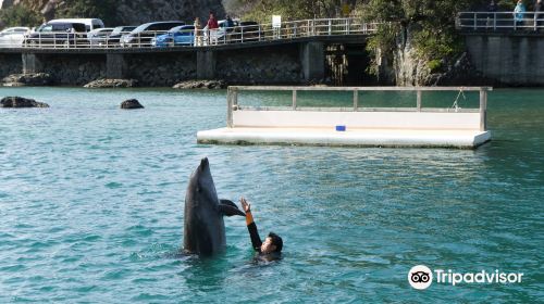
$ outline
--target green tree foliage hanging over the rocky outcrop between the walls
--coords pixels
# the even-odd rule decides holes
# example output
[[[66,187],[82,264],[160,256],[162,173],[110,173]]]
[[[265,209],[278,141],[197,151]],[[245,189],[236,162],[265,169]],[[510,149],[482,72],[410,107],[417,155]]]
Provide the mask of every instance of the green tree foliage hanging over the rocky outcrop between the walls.
[[[386,22],[378,35],[370,39],[369,51],[379,47],[390,59],[408,35],[418,56],[430,63],[430,68],[441,68],[438,62],[457,55],[463,40],[457,35],[457,13],[482,9],[481,0],[370,0],[360,5],[367,21]],[[432,66],[431,66],[432,65]],[[374,69],[375,72],[375,69]]]

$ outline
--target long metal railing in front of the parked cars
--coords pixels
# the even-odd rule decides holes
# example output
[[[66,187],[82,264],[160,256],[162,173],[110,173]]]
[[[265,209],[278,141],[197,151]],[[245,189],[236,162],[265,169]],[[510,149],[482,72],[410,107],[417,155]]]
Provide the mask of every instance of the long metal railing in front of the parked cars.
[[[174,42],[174,34],[169,31],[125,33],[118,40],[108,37],[92,39],[87,36],[87,33],[30,33],[24,37],[22,46],[18,47],[26,49],[124,49],[221,46],[316,36],[370,35],[378,30],[378,23],[364,23],[361,18],[323,18],[284,22],[281,27],[259,24],[211,30],[197,29],[185,31],[183,35],[188,38],[182,39],[181,43]],[[161,42],[158,38],[166,38],[166,42],[162,40]],[[0,45],[1,47],[7,46]]]

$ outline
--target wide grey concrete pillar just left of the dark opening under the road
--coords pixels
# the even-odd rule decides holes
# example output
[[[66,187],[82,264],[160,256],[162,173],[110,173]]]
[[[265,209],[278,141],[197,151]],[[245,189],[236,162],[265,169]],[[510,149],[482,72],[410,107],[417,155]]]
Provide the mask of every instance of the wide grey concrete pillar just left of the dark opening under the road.
[[[323,42],[312,41],[300,45],[300,62],[304,80],[325,78],[325,49]]]

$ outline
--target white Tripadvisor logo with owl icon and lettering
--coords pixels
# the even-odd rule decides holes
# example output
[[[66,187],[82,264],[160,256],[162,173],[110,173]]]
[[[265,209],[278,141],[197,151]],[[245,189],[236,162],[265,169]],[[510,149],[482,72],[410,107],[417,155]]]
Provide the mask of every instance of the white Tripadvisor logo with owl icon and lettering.
[[[456,286],[458,283],[521,283],[522,273],[502,273],[497,269],[489,273],[485,270],[479,273],[455,273],[452,269],[435,269],[433,271],[425,265],[411,267],[408,271],[408,282],[415,289],[428,289],[435,278],[436,283]]]

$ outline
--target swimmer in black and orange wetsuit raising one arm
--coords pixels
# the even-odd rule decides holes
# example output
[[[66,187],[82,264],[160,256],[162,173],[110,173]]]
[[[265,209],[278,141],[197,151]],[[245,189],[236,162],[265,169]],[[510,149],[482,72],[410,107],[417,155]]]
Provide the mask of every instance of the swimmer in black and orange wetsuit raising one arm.
[[[251,238],[251,245],[254,246],[254,250],[259,253],[259,256],[269,255],[271,257],[280,257],[283,248],[282,238],[274,232],[270,232],[267,239],[264,239],[264,242],[262,242],[259,237],[259,232],[257,231],[257,225],[255,225],[254,216],[251,215],[251,205],[244,198],[240,198],[239,202],[246,212],[247,230],[249,230],[249,237]]]

